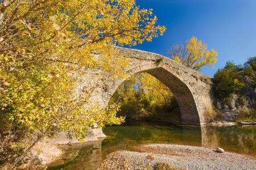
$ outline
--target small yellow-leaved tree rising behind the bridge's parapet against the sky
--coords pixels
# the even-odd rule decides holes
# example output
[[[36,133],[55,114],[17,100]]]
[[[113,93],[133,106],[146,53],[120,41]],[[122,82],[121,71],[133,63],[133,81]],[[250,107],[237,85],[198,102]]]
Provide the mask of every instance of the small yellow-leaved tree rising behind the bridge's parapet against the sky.
[[[208,50],[207,44],[197,40],[197,37],[192,37],[185,46],[174,45],[168,54],[174,61],[197,71],[205,65],[213,66],[217,61],[217,52],[214,49]]]

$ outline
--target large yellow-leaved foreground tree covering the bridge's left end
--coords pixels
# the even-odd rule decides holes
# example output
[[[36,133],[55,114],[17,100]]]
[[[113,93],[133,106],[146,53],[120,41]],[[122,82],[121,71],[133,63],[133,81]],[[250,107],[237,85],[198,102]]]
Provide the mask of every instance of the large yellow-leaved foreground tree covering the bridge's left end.
[[[94,87],[70,96],[88,69],[125,76],[128,62],[114,46],[162,35],[166,28],[156,20],[135,0],[0,1],[0,164],[26,163],[24,156],[52,131],[82,139],[94,122],[122,122],[117,106],[83,107]]]

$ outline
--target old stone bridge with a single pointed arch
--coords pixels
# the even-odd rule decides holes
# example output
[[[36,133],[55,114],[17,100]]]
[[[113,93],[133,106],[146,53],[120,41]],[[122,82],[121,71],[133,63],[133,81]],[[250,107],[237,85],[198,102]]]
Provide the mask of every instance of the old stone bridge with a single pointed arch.
[[[159,54],[126,48],[120,50],[130,60],[130,67],[125,70],[129,75],[148,73],[171,89],[179,105],[182,124],[207,124],[209,114],[212,113],[211,81],[208,76]],[[80,87],[84,83],[101,82],[91,100],[104,107],[125,79],[113,79],[105,73],[104,79],[97,80],[97,70],[89,72],[83,76]]]

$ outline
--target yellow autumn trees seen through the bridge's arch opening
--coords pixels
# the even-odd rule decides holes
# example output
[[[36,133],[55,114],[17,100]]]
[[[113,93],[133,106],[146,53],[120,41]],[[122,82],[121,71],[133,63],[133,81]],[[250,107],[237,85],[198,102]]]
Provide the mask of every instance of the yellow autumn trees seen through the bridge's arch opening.
[[[118,114],[129,119],[162,120],[176,114],[171,90],[148,73],[134,74],[115,91],[109,104],[119,103]]]

